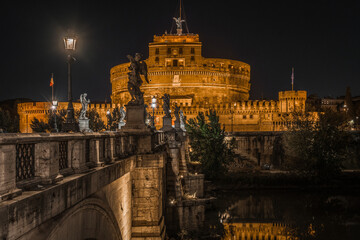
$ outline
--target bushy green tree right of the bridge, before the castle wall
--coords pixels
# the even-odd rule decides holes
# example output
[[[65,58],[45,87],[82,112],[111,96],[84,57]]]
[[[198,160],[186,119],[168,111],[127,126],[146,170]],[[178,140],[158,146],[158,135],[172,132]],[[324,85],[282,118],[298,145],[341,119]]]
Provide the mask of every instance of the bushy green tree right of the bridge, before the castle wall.
[[[206,120],[207,118],[207,120]],[[190,158],[199,161],[205,175],[209,178],[221,176],[227,171],[227,165],[234,160],[235,140],[225,140],[225,131],[221,129],[219,117],[215,111],[204,115],[199,113],[186,124],[190,139]]]

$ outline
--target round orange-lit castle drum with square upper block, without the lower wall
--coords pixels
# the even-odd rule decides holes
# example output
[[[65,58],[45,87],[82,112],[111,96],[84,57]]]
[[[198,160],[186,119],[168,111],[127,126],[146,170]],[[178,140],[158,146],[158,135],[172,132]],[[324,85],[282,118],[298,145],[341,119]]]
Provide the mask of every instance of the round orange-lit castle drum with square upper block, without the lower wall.
[[[198,34],[163,34],[149,43],[148,77],[141,89],[145,103],[165,93],[178,104],[218,104],[249,99],[250,66],[229,59],[204,58]],[[129,63],[110,70],[112,103],[130,100],[127,89]],[[190,105],[188,105],[190,104]]]

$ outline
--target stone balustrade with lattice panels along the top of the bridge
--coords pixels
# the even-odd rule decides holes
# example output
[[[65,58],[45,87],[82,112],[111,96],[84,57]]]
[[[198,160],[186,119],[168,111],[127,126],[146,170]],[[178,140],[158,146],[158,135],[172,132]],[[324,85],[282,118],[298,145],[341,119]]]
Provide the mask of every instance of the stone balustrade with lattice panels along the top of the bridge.
[[[138,146],[140,138],[121,132],[0,134],[0,202],[21,189],[52,184],[165,142],[162,132],[153,134],[154,144],[147,148]]]

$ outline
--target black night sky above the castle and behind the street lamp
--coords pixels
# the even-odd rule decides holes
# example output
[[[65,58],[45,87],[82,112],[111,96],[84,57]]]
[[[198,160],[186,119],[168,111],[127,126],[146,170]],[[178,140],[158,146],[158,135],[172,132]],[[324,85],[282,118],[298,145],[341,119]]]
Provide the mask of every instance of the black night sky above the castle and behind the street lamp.
[[[10,2],[10,1],[8,1]],[[78,35],[73,96],[110,100],[110,68],[127,54],[148,56],[154,34],[170,30],[178,0],[27,1],[2,5],[0,100],[66,100],[67,65],[62,37]],[[40,3],[41,2],[41,3]],[[69,4],[67,4],[67,2]],[[291,88],[340,96],[360,95],[360,1],[184,0],[190,32],[203,56],[251,66],[251,99],[277,99]]]

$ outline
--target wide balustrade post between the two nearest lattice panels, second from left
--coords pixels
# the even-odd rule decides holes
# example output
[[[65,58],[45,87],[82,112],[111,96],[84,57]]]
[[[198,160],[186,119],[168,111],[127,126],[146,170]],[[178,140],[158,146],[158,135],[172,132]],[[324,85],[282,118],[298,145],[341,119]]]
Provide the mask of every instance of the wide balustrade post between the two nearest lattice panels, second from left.
[[[52,184],[63,179],[59,173],[59,143],[40,142],[35,144],[35,176],[41,183]]]

